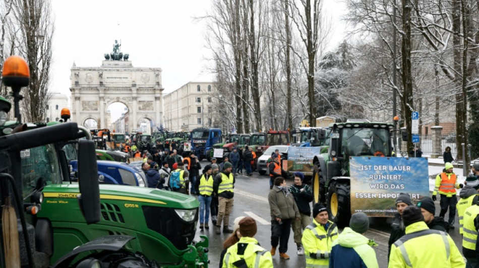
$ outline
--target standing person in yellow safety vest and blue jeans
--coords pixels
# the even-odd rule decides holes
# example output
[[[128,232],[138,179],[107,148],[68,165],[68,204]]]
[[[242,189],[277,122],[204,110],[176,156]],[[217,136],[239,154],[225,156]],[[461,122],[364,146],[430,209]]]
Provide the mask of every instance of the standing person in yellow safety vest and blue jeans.
[[[213,194],[213,176],[211,165],[203,168],[203,174],[199,180],[195,182],[195,190],[198,193],[198,201],[200,201],[200,229],[209,229],[208,222],[210,218],[211,195]],[[205,213],[206,210],[206,213]]]

